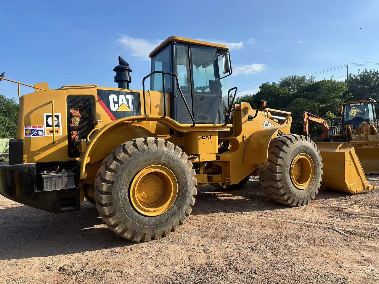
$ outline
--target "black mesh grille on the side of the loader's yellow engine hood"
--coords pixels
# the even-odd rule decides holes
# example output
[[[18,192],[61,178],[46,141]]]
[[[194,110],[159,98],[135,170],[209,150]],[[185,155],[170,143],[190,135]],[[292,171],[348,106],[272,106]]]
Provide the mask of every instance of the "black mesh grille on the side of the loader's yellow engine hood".
[[[93,129],[94,102],[91,96],[69,96],[67,98],[69,157],[79,157],[79,141],[86,139]]]

